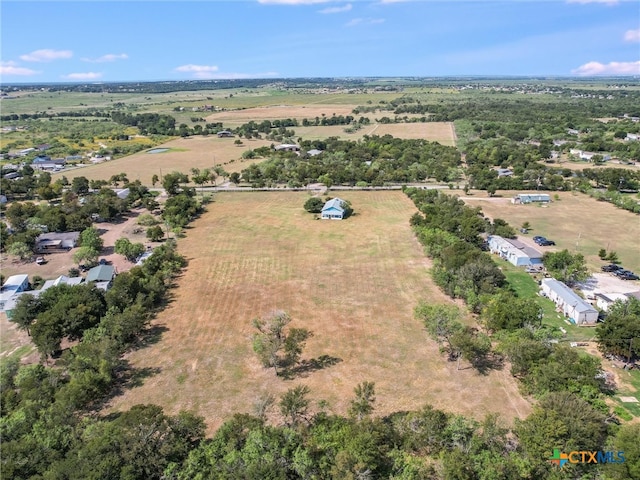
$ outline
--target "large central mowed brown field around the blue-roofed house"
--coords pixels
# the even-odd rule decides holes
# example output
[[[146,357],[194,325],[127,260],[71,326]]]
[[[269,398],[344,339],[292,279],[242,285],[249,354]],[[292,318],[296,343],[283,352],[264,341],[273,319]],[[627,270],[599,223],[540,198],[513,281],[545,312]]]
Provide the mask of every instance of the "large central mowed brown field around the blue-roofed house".
[[[528,414],[508,368],[488,376],[456,371],[413,318],[420,299],[451,300],[430,280],[409,226],[410,200],[401,192],[343,197],[356,215],[323,221],[303,210],[303,192],[218,194],[179,240],[189,266],[155,321],[166,331],[129,355],[134,367],[158,372],[109,409],[190,409],[211,431],[233,413],[251,412],[261,395],[298,384],[310,387],[314,408],[325,400],[344,414],[354,387],[373,381],[377,414],[425,403],[476,418]],[[274,309],[313,332],[303,359],[326,355],[334,364],[293,380],[264,369],[252,351],[251,321]]]

